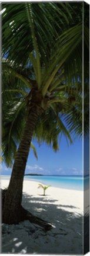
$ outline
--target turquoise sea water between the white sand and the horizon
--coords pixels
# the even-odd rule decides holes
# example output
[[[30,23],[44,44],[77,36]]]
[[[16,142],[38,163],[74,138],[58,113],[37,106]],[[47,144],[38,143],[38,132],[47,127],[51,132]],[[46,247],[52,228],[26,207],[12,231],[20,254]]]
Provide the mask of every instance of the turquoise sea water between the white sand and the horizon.
[[[89,176],[84,178],[82,176],[25,176],[24,179],[71,190],[86,190],[89,188]]]

